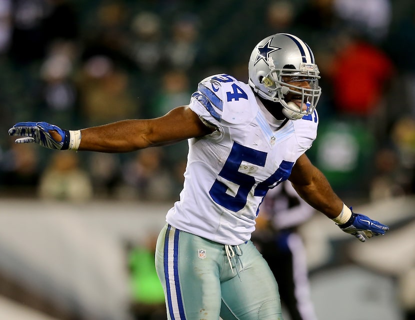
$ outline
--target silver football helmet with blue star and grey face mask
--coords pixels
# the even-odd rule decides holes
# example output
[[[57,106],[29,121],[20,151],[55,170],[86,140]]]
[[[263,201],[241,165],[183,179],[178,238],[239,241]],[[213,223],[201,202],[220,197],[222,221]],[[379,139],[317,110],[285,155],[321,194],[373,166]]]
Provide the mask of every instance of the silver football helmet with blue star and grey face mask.
[[[289,119],[311,114],[321,95],[314,55],[304,41],[292,34],[276,33],[256,44],[248,73],[252,89],[264,99],[281,103]],[[301,86],[294,85],[296,81]],[[302,101],[306,108],[292,100]]]

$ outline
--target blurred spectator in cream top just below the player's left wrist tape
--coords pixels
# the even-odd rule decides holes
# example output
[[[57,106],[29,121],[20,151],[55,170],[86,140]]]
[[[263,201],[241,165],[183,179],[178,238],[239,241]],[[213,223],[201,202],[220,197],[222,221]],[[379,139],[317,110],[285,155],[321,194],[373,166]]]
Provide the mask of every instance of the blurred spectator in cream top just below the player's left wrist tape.
[[[92,197],[92,183],[87,172],[79,167],[75,152],[55,152],[50,162],[40,177],[41,198],[77,202]]]

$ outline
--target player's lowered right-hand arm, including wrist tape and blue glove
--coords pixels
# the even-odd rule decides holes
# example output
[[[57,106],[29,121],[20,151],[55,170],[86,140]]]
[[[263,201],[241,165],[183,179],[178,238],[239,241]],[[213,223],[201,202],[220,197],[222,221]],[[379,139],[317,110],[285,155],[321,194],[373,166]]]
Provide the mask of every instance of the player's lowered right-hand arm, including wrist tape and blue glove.
[[[364,242],[373,235],[384,234],[389,229],[366,215],[354,213],[334,193],[320,170],[301,155],[292,168],[289,177],[298,194],[316,210],[332,219],[341,230],[350,233]]]

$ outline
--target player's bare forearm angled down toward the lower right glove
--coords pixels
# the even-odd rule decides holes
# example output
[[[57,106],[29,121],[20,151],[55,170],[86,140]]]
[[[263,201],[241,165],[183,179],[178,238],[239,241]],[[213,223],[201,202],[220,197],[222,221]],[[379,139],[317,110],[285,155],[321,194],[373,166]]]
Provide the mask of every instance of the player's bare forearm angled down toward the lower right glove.
[[[343,201],[334,193],[320,170],[314,167],[312,179],[307,184],[292,184],[297,193],[313,208],[330,219],[339,215]]]

